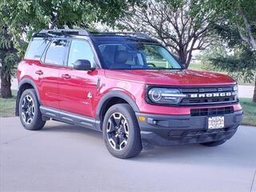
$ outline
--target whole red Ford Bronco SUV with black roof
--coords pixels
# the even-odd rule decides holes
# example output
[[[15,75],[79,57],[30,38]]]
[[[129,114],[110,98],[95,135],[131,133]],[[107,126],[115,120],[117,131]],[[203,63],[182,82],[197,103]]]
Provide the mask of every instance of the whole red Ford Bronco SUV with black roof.
[[[242,122],[232,78],[184,69],[145,34],[42,30],[18,65],[18,87],[27,130],[52,119],[102,131],[117,158],[142,146],[218,146]]]

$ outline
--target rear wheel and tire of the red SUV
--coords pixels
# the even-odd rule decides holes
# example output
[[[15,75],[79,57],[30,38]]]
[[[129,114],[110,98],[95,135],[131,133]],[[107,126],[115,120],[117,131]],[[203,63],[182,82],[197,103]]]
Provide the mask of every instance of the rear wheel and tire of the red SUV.
[[[18,103],[19,118],[26,130],[41,130],[46,124],[42,120],[37,94],[34,89],[24,90]]]

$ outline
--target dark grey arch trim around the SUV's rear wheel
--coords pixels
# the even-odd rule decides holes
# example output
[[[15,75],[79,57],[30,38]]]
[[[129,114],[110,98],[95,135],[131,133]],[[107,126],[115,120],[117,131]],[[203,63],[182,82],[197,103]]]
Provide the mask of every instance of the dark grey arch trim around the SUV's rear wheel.
[[[19,114],[19,111],[18,111],[19,100],[22,96],[23,91],[27,90],[27,89],[35,90],[35,92],[37,94],[38,102],[41,104],[39,93],[38,93],[38,88],[35,85],[35,83],[30,78],[23,78],[21,80],[21,82],[18,83],[18,93],[17,93],[17,97],[16,97],[16,107],[15,107],[15,115],[16,116],[18,116],[18,114]]]

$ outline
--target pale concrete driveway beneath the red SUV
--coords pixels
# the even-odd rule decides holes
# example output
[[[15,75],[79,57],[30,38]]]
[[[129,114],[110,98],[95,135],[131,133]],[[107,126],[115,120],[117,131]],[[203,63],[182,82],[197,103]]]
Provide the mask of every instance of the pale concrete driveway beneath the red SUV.
[[[102,134],[47,122],[24,130],[0,118],[0,191],[254,191],[256,128],[218,147],[173,146],[113,158]]]

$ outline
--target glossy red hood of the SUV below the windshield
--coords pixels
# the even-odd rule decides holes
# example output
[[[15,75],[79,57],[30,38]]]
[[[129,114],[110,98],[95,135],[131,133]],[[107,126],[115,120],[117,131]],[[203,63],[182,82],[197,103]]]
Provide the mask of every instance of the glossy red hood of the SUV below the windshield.
[[[168,86],[215,86],[235,84],[233,78],[198,70],[106,70],[107,78]]]

